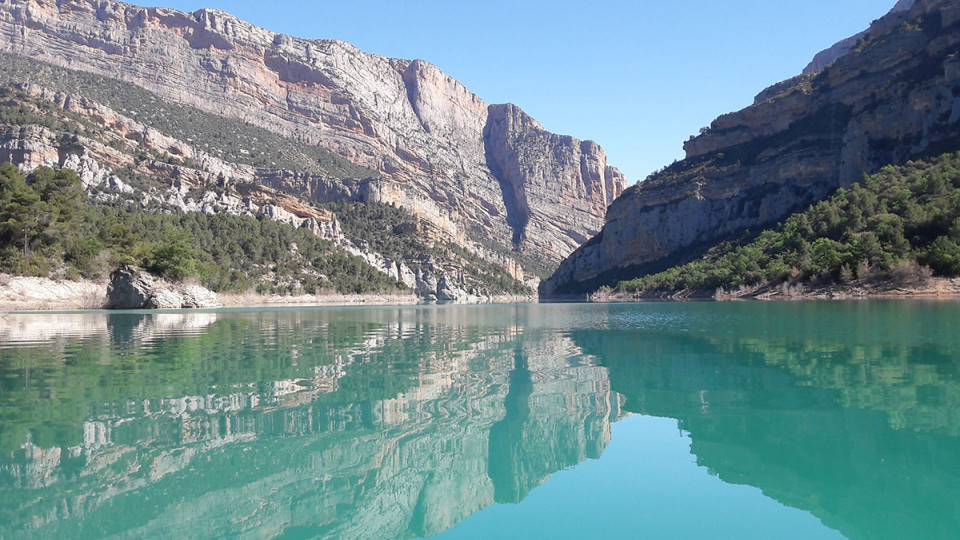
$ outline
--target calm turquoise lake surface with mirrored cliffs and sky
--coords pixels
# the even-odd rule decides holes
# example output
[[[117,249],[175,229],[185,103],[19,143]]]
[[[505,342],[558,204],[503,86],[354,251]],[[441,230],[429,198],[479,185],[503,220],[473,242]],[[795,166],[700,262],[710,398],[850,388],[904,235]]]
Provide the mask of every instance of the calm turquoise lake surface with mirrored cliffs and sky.
[[[957,538],[960,304],[0,315],[0,538]]]

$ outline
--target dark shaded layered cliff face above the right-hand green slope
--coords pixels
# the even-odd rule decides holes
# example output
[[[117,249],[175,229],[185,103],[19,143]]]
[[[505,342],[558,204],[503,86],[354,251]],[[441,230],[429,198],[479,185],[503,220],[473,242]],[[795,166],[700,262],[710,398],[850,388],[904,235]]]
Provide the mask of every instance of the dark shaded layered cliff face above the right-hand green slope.
[[[541,295],[662,268],[884,165],[956,150],[958,53],[960,2],[891,12],[824,70],[765,90],[687,141],[687,158],[627,190]]]

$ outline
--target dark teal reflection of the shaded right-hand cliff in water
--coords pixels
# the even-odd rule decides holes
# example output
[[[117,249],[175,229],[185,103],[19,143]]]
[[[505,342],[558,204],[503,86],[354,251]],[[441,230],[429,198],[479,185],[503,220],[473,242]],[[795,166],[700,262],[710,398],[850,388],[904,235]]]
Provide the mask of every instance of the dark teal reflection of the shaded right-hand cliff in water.
[[[611,306],[574,332],[630,412],[679,420],[697,463],[849,538],[960,530],[960,305]]]

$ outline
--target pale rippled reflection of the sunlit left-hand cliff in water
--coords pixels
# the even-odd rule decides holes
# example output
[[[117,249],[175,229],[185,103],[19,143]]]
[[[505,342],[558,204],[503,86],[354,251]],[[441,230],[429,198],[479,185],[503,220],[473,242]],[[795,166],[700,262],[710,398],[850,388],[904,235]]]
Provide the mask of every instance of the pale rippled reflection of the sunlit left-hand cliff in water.
[[[620,414],[542,315],[9,315],[0,537],[408,538],[519,501]]]

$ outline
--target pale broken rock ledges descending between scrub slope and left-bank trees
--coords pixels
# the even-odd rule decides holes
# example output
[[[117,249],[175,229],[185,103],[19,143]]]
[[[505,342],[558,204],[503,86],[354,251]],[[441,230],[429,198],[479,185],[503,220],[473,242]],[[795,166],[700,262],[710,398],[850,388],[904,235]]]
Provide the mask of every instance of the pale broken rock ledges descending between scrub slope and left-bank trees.
[[[155,133],[152,128],[83,98],[50,92],[35,85],[0,89],[0,95],[3,96],[0,107],[32,110],[35,117],[44,120],[38,124],[59,127],[59,131],[54,131],[31,124],[25,128],[0,131],[0,152],[2,149],[21,149],[11,159],[15,159],[25,171],[41,165],[73,169],[96,200],[112,205],[125,201],[153,211],[252,216],[307,228],[362,258],[410,290],[420,291],[425,299],[478,302],[488,301],[501,292],[480,286],[484,281],[482,275],[490,272],[489,268],[479,269],[461,256],[448,254],[434,259],[418,252],[402,254],[399,260],[384,257],[368,243],[346,238],[337,216],[310,202],[394,203],[391,197],[396,195],[396,190],[392,187],[396,185],[382,178],[336,180],[309,172],[255,169],[213,158],[190,143]],[[93,138],[83,131],[84,124],[79,123],[78,117],[97,124],[104,123],[104,118],[110,120]],[[72,128],[82,134],[71,133]],[[146,154],[145,150],[152,152],[153,159],[141,157]],[[192,160],[192,166],[182,163],[181,156]],[[125,171],[121,174],[130,174],[131,168],[155,182],[140,178],[134,187],[113,173],[121,170]],[[294,197],[290,193],[302,193],[303,197]],[[440,208],[436,203],[420,196],[417,204],[421,213],[429,210],[439,216]],[[411,220],[404,226],[406,229],[402,232],[415,232],[428,245],[431,242],[466,241],[465,238],[451,239],[450,229],[442,230],[436,222]],[[511,258],[492,250],[483,252],[481,258],[504,268],[510,277],[525,281],[523,269]],[[466,278],[464,267],[470,267],[466,269]],[[419,281],[415,270],[423,276]],[[319,276],[321,281],[329,277]],[[441,282],[448,285],[439,289]],[[536,283],[530,286],[535,288]]]

